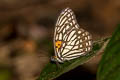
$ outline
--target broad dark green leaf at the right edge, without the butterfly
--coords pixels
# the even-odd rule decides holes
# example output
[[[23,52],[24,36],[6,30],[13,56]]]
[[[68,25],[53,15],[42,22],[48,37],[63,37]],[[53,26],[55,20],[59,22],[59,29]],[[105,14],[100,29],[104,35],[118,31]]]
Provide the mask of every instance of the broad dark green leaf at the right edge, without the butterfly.
[[[105,49],[97,80],[120,80],[120,24]]]

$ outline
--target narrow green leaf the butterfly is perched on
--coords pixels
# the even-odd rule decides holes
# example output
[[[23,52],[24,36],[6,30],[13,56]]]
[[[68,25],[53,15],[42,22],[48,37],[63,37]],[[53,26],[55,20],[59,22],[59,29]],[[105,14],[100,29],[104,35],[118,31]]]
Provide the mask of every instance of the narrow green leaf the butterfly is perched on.
[[[37,80],[52,80],[60,75],[62,75],[65,72],[68,72],[79,65],[82,65],[83,63],[90,60],[93,56],[97,55],[97,51],[99,51],[104,44],[104,42],[109,39],[105,38],[99,41],[96,41],[93,43],[93,49],[92,51],[86,55],[81,56],[80,58],[70,60],[69,62],[64,62],[63,64],[60,64],[60,67],[57,67],[55,63],[49,62],[46,67],[43,69],[43,71],[40,74],[40,77]]]

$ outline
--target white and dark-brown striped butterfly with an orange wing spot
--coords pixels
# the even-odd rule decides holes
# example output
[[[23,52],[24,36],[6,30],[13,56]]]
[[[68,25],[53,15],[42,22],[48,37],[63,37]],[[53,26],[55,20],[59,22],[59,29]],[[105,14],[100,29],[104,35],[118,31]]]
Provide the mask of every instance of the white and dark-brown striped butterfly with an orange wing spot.
[[[55,25],[55,56],[51,59],[63,63],[88,54],[92,49],[92,36],[82,29],[70,8],[64,9]]]

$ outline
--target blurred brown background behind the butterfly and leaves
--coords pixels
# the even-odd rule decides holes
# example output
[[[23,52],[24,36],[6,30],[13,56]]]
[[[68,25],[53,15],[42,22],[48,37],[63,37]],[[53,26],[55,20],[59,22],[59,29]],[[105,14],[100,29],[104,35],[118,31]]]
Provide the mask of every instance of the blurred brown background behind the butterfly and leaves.
[[[110,36],[120,21],[120,0],[0,0],[0,80],[35,80],[40,75],[54,54],[55,23],[66,7],[93,40]],[[99,60],[83,67],[95,74]]]

